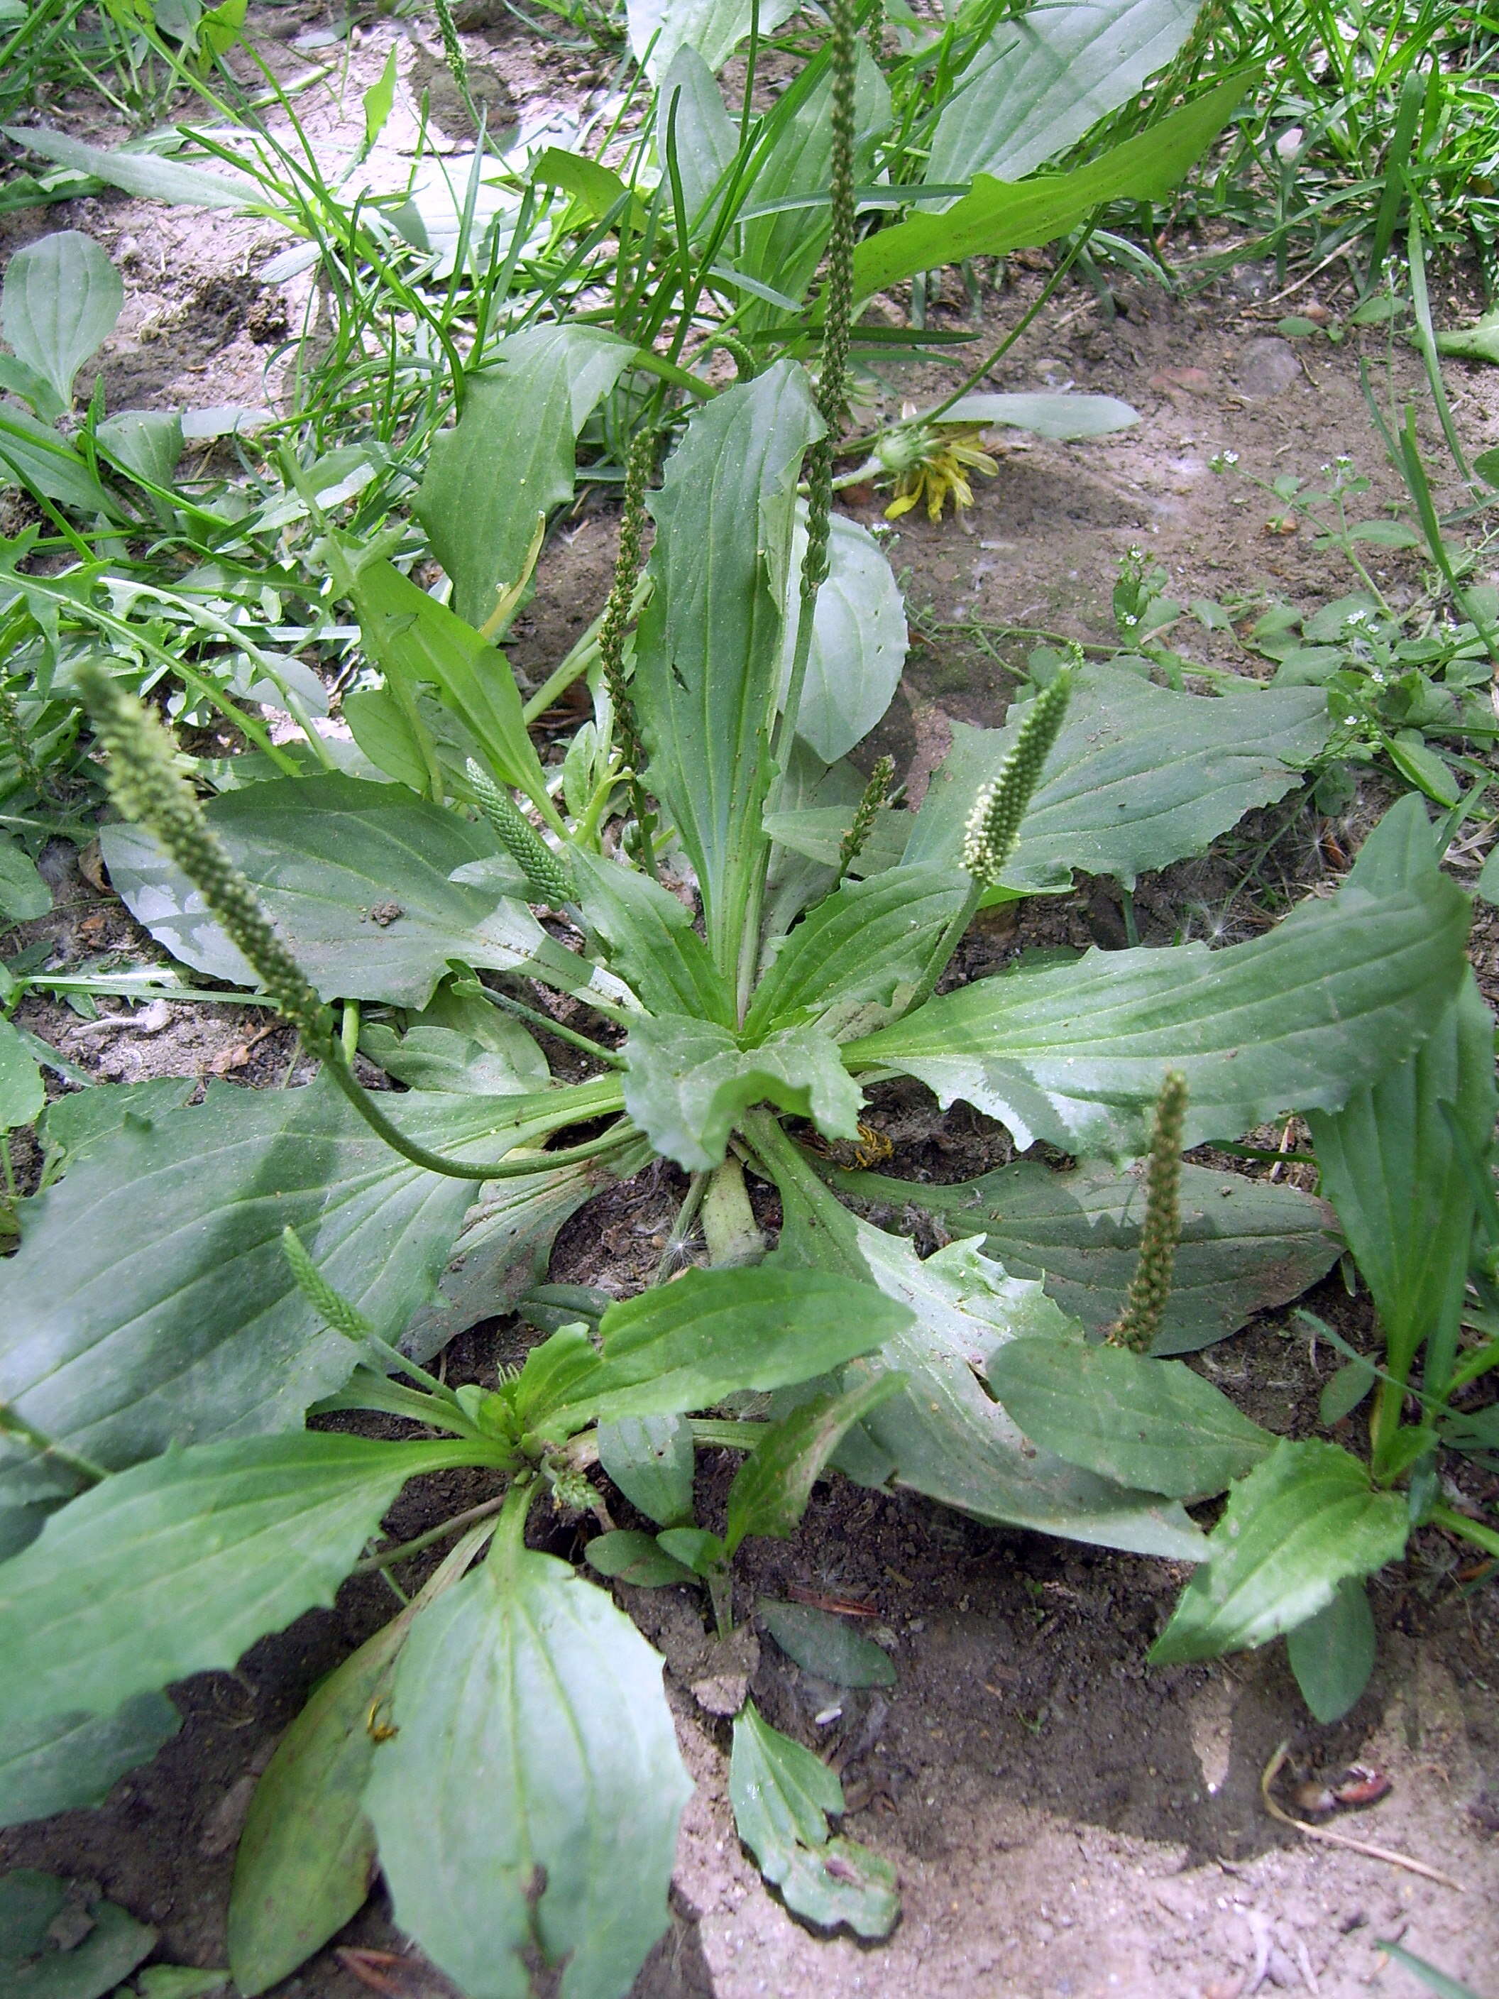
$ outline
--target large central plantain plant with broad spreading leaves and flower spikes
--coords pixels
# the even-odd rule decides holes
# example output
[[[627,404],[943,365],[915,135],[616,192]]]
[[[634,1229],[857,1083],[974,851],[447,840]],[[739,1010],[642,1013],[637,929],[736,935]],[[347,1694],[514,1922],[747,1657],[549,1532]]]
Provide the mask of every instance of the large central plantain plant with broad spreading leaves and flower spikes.
[[[610,602],[560,674],[594,690],[560,766],[498,640],[570,478],[572,396],[538,398],[510,464],[458,432],[438,458],[452,604],[328,534],[372,664],[348,768],[248,754],[204,804],[160,724],[106,670],[80,676],[118,892],[184,968],[288,1019],[316,1077],[198,1103],[96,1085],[40,1117],[48,1185],[0,1271],[6,1815],[98,1799],[176,1727],[172,1681],[420,1551],[368,1553],[406,1481],[462,1467],[486,1493],[262,1779],[230,1911],[246,1995],[336,1933],[376,1861],[472,1999],[630,1987],[688,1779],[660,1661],[526,1541],[538,1501],[600,1507],[598,1465],[660,1531],[598,1535],[594,1573],[702,1583],[720,1629],[740,1545],[791,1533],[829,1465],[1195,1563],[1163,1659],[1305,1625],[1407,1531],[1393,1459],[1277,1441],[1169,1357],[1339,1247],[1323,1203],[1181,1151],[1285,1111],[1355,1115],[1421,1061],[1471,1007],[1467,898],[1407,800],[1337,896],[1253,942],[963,982],[979,910],[1073,870],[1129,886],[1293,790],[1325,696],[1209,700],[1073,664],[1005,730],[957,728],[919,810],[847,762],[895,692],[903,616],[877,544],[829,508],[855,292],[845,4],[833,42],[815,392],[781,360],[716,396],[654,494],[638,454]],[[584,332],[580,398],[628,360]],[[558,344],[510,364],[516,392]],[[556,1079],[538,1031],[586,1073]],[[410,1087],[372,1091],[360,1051]],[[861,1171],[867,1091],[891,1077],[1071,1163],[957,1187]],[[538,1291],[562,1223],[660,1161],[686,1175],[662,1281],[602,1311]],[[861,1213],[909,1205],[945,1247],[921,1257]],[[700,1219],[708,1267],[682,1273]],[[430,1371],[522,1303],[546,1337],[514,1375]],[[748,1415],[744,1391],[771,1399]],[[412,1429],[326,1421],[360,1411]],[[718,1529],[692,1511],[700,1447],[742,1457]],[[1185,1501],[1225,1489],[1209,1539]],[[750,1701],[730,1781],[791,1909],[889,1929],[889,1867],[829,1827],[835,1777]]]

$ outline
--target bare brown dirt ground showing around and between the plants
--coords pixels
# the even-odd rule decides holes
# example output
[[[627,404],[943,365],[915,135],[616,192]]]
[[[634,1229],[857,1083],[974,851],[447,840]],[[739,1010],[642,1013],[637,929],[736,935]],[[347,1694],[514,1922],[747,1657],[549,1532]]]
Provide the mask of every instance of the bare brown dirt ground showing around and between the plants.
[[[278,10],[274,32],[292,44],[316,24],[312,8]],[[358,114],[358,90],[378,74],[402,30],[376,26],[362,42],[344,104],[310,98],[314,134],[332,138]],[[522,112],[576,104],[594,86],[584,58],[538,54],[514,26],[470,36]],[[310,52],[312,54],[312,52]],[[414,48],[418,82],[430,52]],[[584,72],[590,72],[588,76]],[[402,118],[406,124],[402,124]],[[342,126],[346,130],[346,124]],[[400,154],[414,130],[398,110],[386,144]],[[112,408],[126,402],[204,406],[266,402],[284,362],[268,354],[298,322],[306,292],[258,284],[256,272],[286,238],[270,224],[224,222],[184,210],[104,196],[70,208],[8,218],[14,248],[50,228],[86,228],[122,264],[128,318],[104,356]],[[1013,324],[1039,280],[1015,270],[985,300],[985,332]],[[1261,274],[1239,272],[1195,300],[1171,300],[1137,282],[1121,286],[1123,312],[1105,320],[1085,288],[1069,288],[1041,314],[987,386],[1101,390],[1129,400],[1141,422],[1085,446],[1011,436],[1001,474],[983,482],[961,526],[901,522],[891,560],[907,570],[919,620],[901,696],[879,744],[919,784],[939,760],[953,720],[995,722],[1013,678],[1003,660],[1027,640],[973,638],[989,626],[1043,626],[1109,638],[1117,558],[1143,546],[1167,566],[1173,594],[1283,596],[1315,606],[1351,588],[1335,554],[1305,534],[1269,536],[1263,496],[1215,478],[1209,458],[1235,450],[1241,470],[1271,478],[1313,476],[1339,454],[1377,474],[1377,442],[1357,384],[1357,356],[1379,360],[1383,336],[1333,348],[1279,340],[1279,310]],[[1335,304],[1331,274],[1323,298]],[[955,324],[951,318],[947,324]],[[977,348],[975,352],[983,352]],[[887,402],[949,386],[927,372],[891,376]],[[1397,392],[1415,388],[1409,356],[1393,356]],[[1481,370],[1449,370],[1459,424],[1473,450],[1499,438],[1499,394]],[[1385,490],[1381,486],[1381,490]],[[857,490],[855,518],[877,520],[881,502]],[[1373,512],[1373,506],[1371,506]],[[542,566],[538,606],[568,602],[586,622],[604,596],[608,520],[558,536]],[[1379,552],[1381,556],[1385,552]],[[1387,560],[1391,590],[1413,588],[1409,558]],[[572,606],[578,606],[574,614]],[[963,626],[963,630],[941,630]],[[546,666],[572,638],[566,622],[534,620],[516,652]],[[1197,656],[1229,664],[1231,648],[1201,634]],[[1357,844],[1367,804],[1341,828]],[[70,864],[52,856],[58,912],[44,930],[62,958],[128,942],[130,920]],[[1277,882],[1311,888],[1329,860],[1319,826],[1303,814],[1273,846]],[[1169,940],[1187,912],[1231,898],[1241,870],[1219,850],[1141,884],[1145,942]],[[1019,930],[993,952],[1025,942],[1117,944],[1119,912],[1107,892],[1083,890],[1027,906]],[[136,934],[138,936],[138,934]],[[1475,958],[1493,998],[1495,938],[1479,934]],[[90,1027],[64,1007],[36,1005],[28,1023],[98,1073],[280,1081],[290,1037],[252,1043],[262,1023],[228,1007],[170,1005]],[[925,1117],[925,1123],[921,1121]],[[959,1177],[1003,1155],[1003,1139],[957,1111],[911,1111],[913,1159],[935,1177]],[[554,1275],[624,1289],[654,1267],[676,1205],[672,1175],[618,1189],[564,1231]],[[773,1215],[767,1215],[773,1219]],[[1309,1299],[1353,1329],[1361,1305],[1333,1275]],[[456,1377],[486,1379],[516,1349],[514,1321],[480,1327],[450,1351]],[[1305,1331],[1289,1311],[1263,1313],[1209,1351],[1203,1365],[1251,1413],[1285,1431],[1315,1423],[1319,1379]],[[722,1501],[724,1465],[702,1465],[706,1517]],[[408,1493],[390,1527],[422,1531],[482,1497],[472,1479],[428,1481]],[[1491,1497],[1491,1495],[1489,1495]],[[630,1509],[618,1503],[622,1523]],[[576,1531],[550,1545],[578,1553]],[[1257,1991],[1307,1991],[1325,1999],[1407,1995],[1419,1987],[1379,1951],[1399,1937],[1415,1953],[1499,1993],[1499,1597],[1489,1581],[1465,1589],[1463,1557],[1437,1533],[1375,1585],[1381,1663],[1353,1713],[1335,1727],[1309,1721],[1281,1647],[1211,1667],[1147,1671],[1145,1649],[1165,1619],[1181,1573],[1167,1563],[1051,1543],[969,1523],[919,1499],[841,1483],[819,1487],[801,1535],[785,1547],[755,1543],[740,1577],[740,1611],[761,1591],[787,1589],[853,1601],[891,1643],[899,1679],[887,1693],[843,1693],[811,1681],[763,1639],[753,1695],[779,1727],[817,1745],[841,1767],[847,1829],[889,1855],[901,1879],[903,1919],[879,1947],[817,1937],[793,1921],[742,1853],[726,1799],[726,1725],[692,1693],[714,1669],[702,1605],[688,1591],[622,1591],[666,1657],[684,1755],[698,1779],[688,1807],[672,1931],[636,1987],[638,1999],[1249,1999]],[[422,1563],[404,1571],[414,1587]],[[234,1841],[256,1773],[314,1679],[334,1667],[394,1607],[378,1579],[352,1583],[330,1613],[304,1617],[258,1645],[238,1673],[204,1675],[178,1689],[182,1735],[158,1761],[122,1779],[108,1805],[0,1835],[0,1863],[46,1867],[98,1881],[136,1917],[162,1931],[166,1961],[224,1961],[224,1909]],[[829,1717],[829,1709],[837,1709]],[[1259,1777],[1279,1743],[1291,1745],[1297,1779],[1337,1775],[1351,1763],[1391,1779],[1377,1809],[1343,1815],[1335,1831],[1395,1849],[1461,1883],[1449,1885],[1381,1859],[1313,1843],[1263,1809]],[[1281,1789],[1289,1797],[1289,1785]],[[382,1889],[338,1947],[404,1951]],[[284,1999],[362,1999],[368,1985],[320,1953],[284,1987]],[[414,1953],[382,1973],[408,1999],[436,1999],[444,1981]]]

